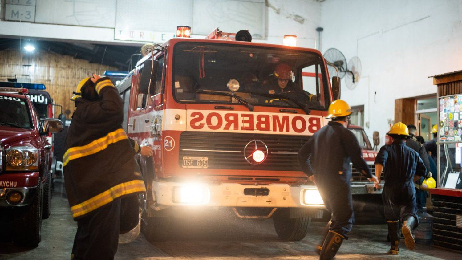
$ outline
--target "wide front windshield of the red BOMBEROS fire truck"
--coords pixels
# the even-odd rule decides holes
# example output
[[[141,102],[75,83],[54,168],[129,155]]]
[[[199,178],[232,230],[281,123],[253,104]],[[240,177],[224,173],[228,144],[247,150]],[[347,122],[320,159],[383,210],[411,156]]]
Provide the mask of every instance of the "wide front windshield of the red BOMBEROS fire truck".
[[[244,101],[305,111],[324,110],[329,105],[327,74],[322,57],[314,52],[180,42],[175,45],[173,59],[172,87],[177,102]],[[237,80],[238,87],[232,79]]]

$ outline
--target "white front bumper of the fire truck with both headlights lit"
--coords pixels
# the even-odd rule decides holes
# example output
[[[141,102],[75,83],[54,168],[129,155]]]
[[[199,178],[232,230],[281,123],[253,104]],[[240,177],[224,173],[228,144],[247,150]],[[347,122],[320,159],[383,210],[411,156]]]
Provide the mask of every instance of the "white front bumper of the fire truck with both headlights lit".
[[[152,195],[162,206],[300,207],[325,208],[316,186],[288,184],[153,182]]]

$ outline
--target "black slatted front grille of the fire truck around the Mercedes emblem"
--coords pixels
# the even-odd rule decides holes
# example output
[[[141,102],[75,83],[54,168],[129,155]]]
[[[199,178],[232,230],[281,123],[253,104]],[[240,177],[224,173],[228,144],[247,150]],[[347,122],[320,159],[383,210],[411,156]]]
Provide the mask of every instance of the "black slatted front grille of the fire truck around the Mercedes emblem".
[[[248,163],[243,154],[245,145],[254,139],[268,147],[267,158],[260,164]],[[183,157],[207,157],[207,169],[301,171],[297,153],[308,139],[293,135],[183,132],[178,159],[182,166]]]

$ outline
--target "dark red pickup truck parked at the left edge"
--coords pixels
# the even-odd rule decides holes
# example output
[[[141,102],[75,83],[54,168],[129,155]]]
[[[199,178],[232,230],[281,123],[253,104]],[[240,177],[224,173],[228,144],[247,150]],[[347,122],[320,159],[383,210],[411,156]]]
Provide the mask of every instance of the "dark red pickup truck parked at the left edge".
[[[37,246],[42,219],[50,215],[51,145],[46,137],[62,123],[43,123],[27,89],[0,88],[0,222],[12,222],[12,240]]]

